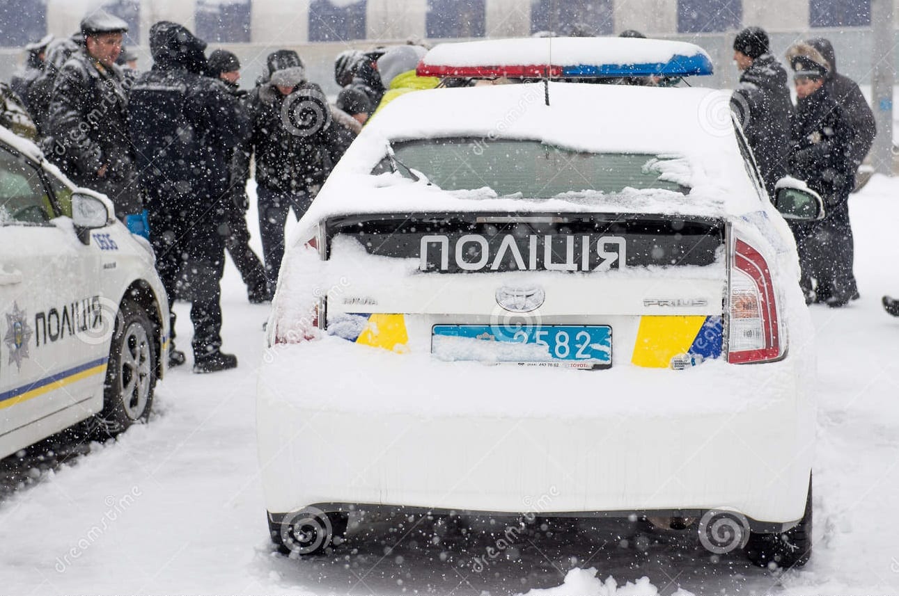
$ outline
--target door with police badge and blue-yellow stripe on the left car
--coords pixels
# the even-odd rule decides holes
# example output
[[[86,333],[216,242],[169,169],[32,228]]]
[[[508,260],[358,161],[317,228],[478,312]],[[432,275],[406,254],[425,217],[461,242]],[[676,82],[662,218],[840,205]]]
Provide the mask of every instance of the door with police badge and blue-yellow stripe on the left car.
[[[0,457],[102,403],[99,250],[51,221],[51,197],[35,163],[0,145]]]

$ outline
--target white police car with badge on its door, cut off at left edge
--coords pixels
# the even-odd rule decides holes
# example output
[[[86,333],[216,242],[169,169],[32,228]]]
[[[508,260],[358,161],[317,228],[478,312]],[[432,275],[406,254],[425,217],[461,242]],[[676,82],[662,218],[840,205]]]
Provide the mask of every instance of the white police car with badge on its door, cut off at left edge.
[[[146,420],[168,320],[149,243],[0,127],[0,457]]]

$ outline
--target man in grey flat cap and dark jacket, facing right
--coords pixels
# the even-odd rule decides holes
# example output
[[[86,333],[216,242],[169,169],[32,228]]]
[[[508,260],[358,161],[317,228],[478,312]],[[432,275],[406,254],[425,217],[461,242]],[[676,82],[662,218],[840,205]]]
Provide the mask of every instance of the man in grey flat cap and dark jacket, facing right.
[[[128,95],[115,64],[128,23],[98,10],[85,17],[81,31],[85,47],[53,84],[47,153],[76,184],[110,197],[124,221],[143,211],[128,138]]]

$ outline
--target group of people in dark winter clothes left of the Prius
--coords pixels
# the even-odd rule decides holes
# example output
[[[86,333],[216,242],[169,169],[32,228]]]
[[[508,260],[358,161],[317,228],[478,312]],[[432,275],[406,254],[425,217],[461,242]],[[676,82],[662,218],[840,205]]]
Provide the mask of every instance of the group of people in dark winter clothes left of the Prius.
[[[147,237],[170,306],[191,302],[194,371],[234,368],[236,356],[221,349],[225,252],[250,302],[270,301],[289,211],[306,212],[377,109],[385,89],[376,61],[389,52],[358,52],[344,65],[355,93],[342,94],[344,111],[307,80],[294,50],[271,52],[247,92],[237,83],[235,54],[217,49],[207,57],[206,43],[174,22],[151,27],[153,66],[138,73],[122,48],[127,31],[126,22],[97,10],[72,37],[41,39],[26,48],[28,64],[13,77],[11,95],[30,121],[26,136],[48,159],[77,185],[105,193],[120,220]],[[303,113],[310,105],[318,118]],[[246,222],[251,162],[262,259],[249,246]],[[186,355],[174,345],[174,313],[171,323],[167,357],[177,366]]]

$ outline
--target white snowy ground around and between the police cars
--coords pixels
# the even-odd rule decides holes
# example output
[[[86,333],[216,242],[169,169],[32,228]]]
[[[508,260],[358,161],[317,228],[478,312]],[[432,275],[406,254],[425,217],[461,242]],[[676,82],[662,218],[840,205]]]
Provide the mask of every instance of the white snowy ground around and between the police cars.
[[[224,337],[240,358],[236,371],[174,370],[158,387],[151,424],[115,443],[56,438],[24,461],[0,461],[7,477],[0,593],[497,595],[559,586],[573,567],[595,568],[603,582],[575,571],[564,586],[533,596],[899,593],[899,319],[880,306],[882,294],[899,295],[899,180],[875,178],[850,206],[862,297],[841,310],[812,308],[820,389],[816,546],[803,571],[757,569],[737,554],[711,557],[691,532],[627,521],[531,528],[509,560],[481,573],[471,560],[494,544],[484,532],[463,536],[440,520],[403,515],[372,520],[329,557],[273,553],[254,428],[267,307],[246,302],[229,266]],[[176,310],[188,346],[186,305]]]

